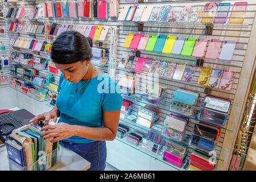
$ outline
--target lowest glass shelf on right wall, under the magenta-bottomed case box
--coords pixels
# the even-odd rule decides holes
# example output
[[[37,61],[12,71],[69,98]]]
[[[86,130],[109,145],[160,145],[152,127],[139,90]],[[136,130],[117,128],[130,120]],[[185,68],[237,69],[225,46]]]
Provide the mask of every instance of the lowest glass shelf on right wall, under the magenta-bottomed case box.
[[[173,168],[177,169],[178,171],[185,171],[185,169],[183,169],[183,168],[179,168],[179,167],[177,167],[177,166],[174,166],[174,165],[171,164],[171,163],[168,163],[168,162],[164,161],[164,160],[163,160],[163,155],[159,155],[159,154],[156,155],[156,156],[151,155],[150,152],[147,152],[147,151],[145,151],[145,150],[142,150],[142,148],[141,148],[140,145],[139,145],[139,146],[134,146],[133,144],[127,143],[127,142],[125,141],[125,138],[122,138],[122,139],[121,139],[121,138],[115,137],[115,139],[118,140],[119,142],[122,142],[122,143],[127,144],[127,146],[133,147],[133,148],[135,148],[136,150],[141,151],[143,154],[146,154],[146,155],[150,156],[151,158],[153,158],[153,159],[155,159],[155,160],[158,160],[158,161],[160,161],[160,162],[162,162],[162,163],[164,163],[164,164],[167,164],[167,165],[170,166],[170,167],[173,167]],[[184,165],[185,165],[185,163],[184,163]]]

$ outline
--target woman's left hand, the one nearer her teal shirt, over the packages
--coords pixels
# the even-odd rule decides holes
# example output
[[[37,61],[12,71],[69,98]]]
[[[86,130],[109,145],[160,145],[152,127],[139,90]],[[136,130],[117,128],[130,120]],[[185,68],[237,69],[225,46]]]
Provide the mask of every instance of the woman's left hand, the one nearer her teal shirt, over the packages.
[[[45,130],[48,130],[48,131],[45,131]],[[44,139],[47,139],[50,137],[56,137],[51,140],[52,143],[75,135],[73,132],[73,125],[69,125],[63,122],[57,123],[56,125],[45,126],[41,129],[41,131],[44,131],[44,133],[41,134],[41,137],[45,136]]]

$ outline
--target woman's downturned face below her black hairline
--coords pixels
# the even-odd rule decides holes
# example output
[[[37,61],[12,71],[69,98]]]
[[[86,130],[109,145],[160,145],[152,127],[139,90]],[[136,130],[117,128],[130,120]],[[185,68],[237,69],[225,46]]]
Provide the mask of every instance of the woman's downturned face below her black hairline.
[[[65,80],[73,82],[76,84],[85,76],[88,71],[89,61],[78,61],[72,64],[57,64],[56,67],[60,69],[64,74]]]

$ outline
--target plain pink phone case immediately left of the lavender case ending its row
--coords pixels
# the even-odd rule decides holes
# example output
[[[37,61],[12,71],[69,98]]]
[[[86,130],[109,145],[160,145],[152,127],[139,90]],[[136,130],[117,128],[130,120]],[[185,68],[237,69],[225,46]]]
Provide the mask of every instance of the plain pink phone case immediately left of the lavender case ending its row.
[[[222,45],[221,39],[210,39],[205,58],[207,59],[218,59],[218,53]]]

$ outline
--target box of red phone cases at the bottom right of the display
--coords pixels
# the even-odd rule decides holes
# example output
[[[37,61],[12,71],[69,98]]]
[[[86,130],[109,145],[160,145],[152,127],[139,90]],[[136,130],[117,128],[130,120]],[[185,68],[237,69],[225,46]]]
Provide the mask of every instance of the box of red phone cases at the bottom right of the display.
[[[213,171],[216,162],[205,152],[196,149],[189,158],[189,171]]]

